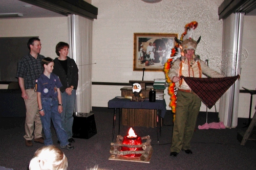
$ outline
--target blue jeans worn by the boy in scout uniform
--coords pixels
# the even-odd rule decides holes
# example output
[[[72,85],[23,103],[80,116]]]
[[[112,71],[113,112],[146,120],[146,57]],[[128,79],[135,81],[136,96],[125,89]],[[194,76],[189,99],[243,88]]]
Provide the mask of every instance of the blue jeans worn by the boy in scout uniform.
[[[51,119],[55,131],[57,133],[60,145],[65,146],[69,144],[66,131],[61,127],[61,116],[58,112],[58,99],[57,98],[42,98],[42,108],[45,115],[41,116],[42,128],[45,133],[45,145],[52,145],[52,133],[51,133]]]

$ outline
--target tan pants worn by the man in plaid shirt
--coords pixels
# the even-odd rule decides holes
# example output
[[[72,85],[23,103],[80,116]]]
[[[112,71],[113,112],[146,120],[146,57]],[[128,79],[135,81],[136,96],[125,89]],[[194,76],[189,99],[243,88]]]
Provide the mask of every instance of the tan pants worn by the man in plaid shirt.
[[[26,140],[32,140],[33,137],[42,137],[42,124],[38,111],[37,94],[34,89],[27,89],[28,99],[24,99],[26,106],[26,122],[24,138]],[[34,131],[34,136],[33,136]]]

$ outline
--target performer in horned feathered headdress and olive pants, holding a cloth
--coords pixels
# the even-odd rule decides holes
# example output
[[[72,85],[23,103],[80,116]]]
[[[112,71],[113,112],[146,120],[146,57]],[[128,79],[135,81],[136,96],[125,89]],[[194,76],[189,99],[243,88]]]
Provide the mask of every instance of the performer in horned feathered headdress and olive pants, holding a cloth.
[[[176,118],[174,119],[172,145],[170,147],[170,156],[176,157],[181,150],[187,154],[192,154],[190,150],[190,140],[193,136],[197,116],[201,107],[201,99],[195,94],[187,83],[181,79],[184,77],[201,78],[202,74],[211,78],[222,78],[221,74],[209,68],[199,57],[195,55],[197,44],[200,38],[195,41],[191,38],[192,32],[196,29],[197,22],[193,21],[185,26],[185,33],[182,34],[182,40],[176,39],[180,44],[176,53],[181,56],[173,61],[173,65],[168,71],[168,77],[172,83],[175,83],[177,91]],[[176,47],[177,48],[177,47]]]

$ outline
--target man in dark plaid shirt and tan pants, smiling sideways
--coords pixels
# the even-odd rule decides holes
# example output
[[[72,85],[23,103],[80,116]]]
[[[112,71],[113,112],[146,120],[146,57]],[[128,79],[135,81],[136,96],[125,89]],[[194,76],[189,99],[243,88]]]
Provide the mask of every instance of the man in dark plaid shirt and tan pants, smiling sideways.
[[[28,48],[30,50],[29,54],[18,61],[16,77],[18,78],[19,87],[22,90],[22,98],[26,106],[25,144],[26,146],[32,146],[33,138],[34,142],[44,143],[37,94],[35,92],[35,80],[44,71],[41,61],[45,57],[39,54],[41,51],[39,38],[30,38]]]

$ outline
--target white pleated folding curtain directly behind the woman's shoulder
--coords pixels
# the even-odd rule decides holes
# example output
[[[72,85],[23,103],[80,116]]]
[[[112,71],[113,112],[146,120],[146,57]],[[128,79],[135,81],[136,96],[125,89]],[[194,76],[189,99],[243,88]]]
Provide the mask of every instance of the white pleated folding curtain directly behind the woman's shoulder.
[[[78,88],[75,112],[92,111],[92,25],[93,20],[69,15],[70,57],[78,66]]]

